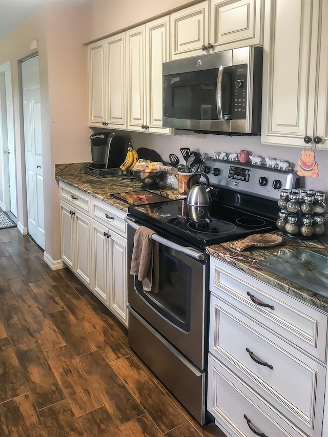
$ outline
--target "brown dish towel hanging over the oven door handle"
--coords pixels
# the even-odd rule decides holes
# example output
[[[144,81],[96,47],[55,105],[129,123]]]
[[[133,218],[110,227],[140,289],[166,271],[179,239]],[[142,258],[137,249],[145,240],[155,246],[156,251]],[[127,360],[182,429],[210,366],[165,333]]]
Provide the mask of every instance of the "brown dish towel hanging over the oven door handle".
[[[156,232],[146,226],[139,226],[135,236],[131,258],[131,275],[142,282],[145,292],[158,292],[158,243],[152,240]]]

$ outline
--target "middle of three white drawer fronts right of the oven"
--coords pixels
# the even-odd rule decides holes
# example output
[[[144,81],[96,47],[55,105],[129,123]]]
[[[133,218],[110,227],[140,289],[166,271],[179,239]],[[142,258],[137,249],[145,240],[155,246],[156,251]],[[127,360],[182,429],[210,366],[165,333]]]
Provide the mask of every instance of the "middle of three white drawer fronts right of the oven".
[[[325,366],[213,294],[210,326],[219,361],[306,433],[321,434]]]

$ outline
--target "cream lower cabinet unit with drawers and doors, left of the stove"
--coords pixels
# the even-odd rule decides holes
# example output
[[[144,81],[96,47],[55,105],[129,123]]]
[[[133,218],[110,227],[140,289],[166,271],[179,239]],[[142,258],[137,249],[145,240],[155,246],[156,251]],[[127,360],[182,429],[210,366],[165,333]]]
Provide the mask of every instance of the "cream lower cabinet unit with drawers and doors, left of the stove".
[[[126,213],[63,182],[59,188],[61,258],[128,326]]]

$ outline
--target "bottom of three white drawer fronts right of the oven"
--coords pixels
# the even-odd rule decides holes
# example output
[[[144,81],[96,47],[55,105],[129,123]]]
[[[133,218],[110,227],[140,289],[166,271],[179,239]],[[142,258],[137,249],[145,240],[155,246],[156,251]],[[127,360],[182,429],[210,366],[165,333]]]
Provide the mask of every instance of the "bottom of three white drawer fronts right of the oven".
[[[232,437],[306,437],[211,355],[208,372],[208,410]]]

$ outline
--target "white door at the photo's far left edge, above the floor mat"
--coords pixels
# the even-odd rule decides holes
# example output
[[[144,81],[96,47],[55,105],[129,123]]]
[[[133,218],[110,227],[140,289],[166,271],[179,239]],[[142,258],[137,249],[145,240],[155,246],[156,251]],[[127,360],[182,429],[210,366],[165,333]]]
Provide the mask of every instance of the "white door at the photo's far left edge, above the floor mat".
[[[0,205],[4,211],[10,211],[17,217],[14,114],[9,62],[0,66],[0,152],[3,188]]]

